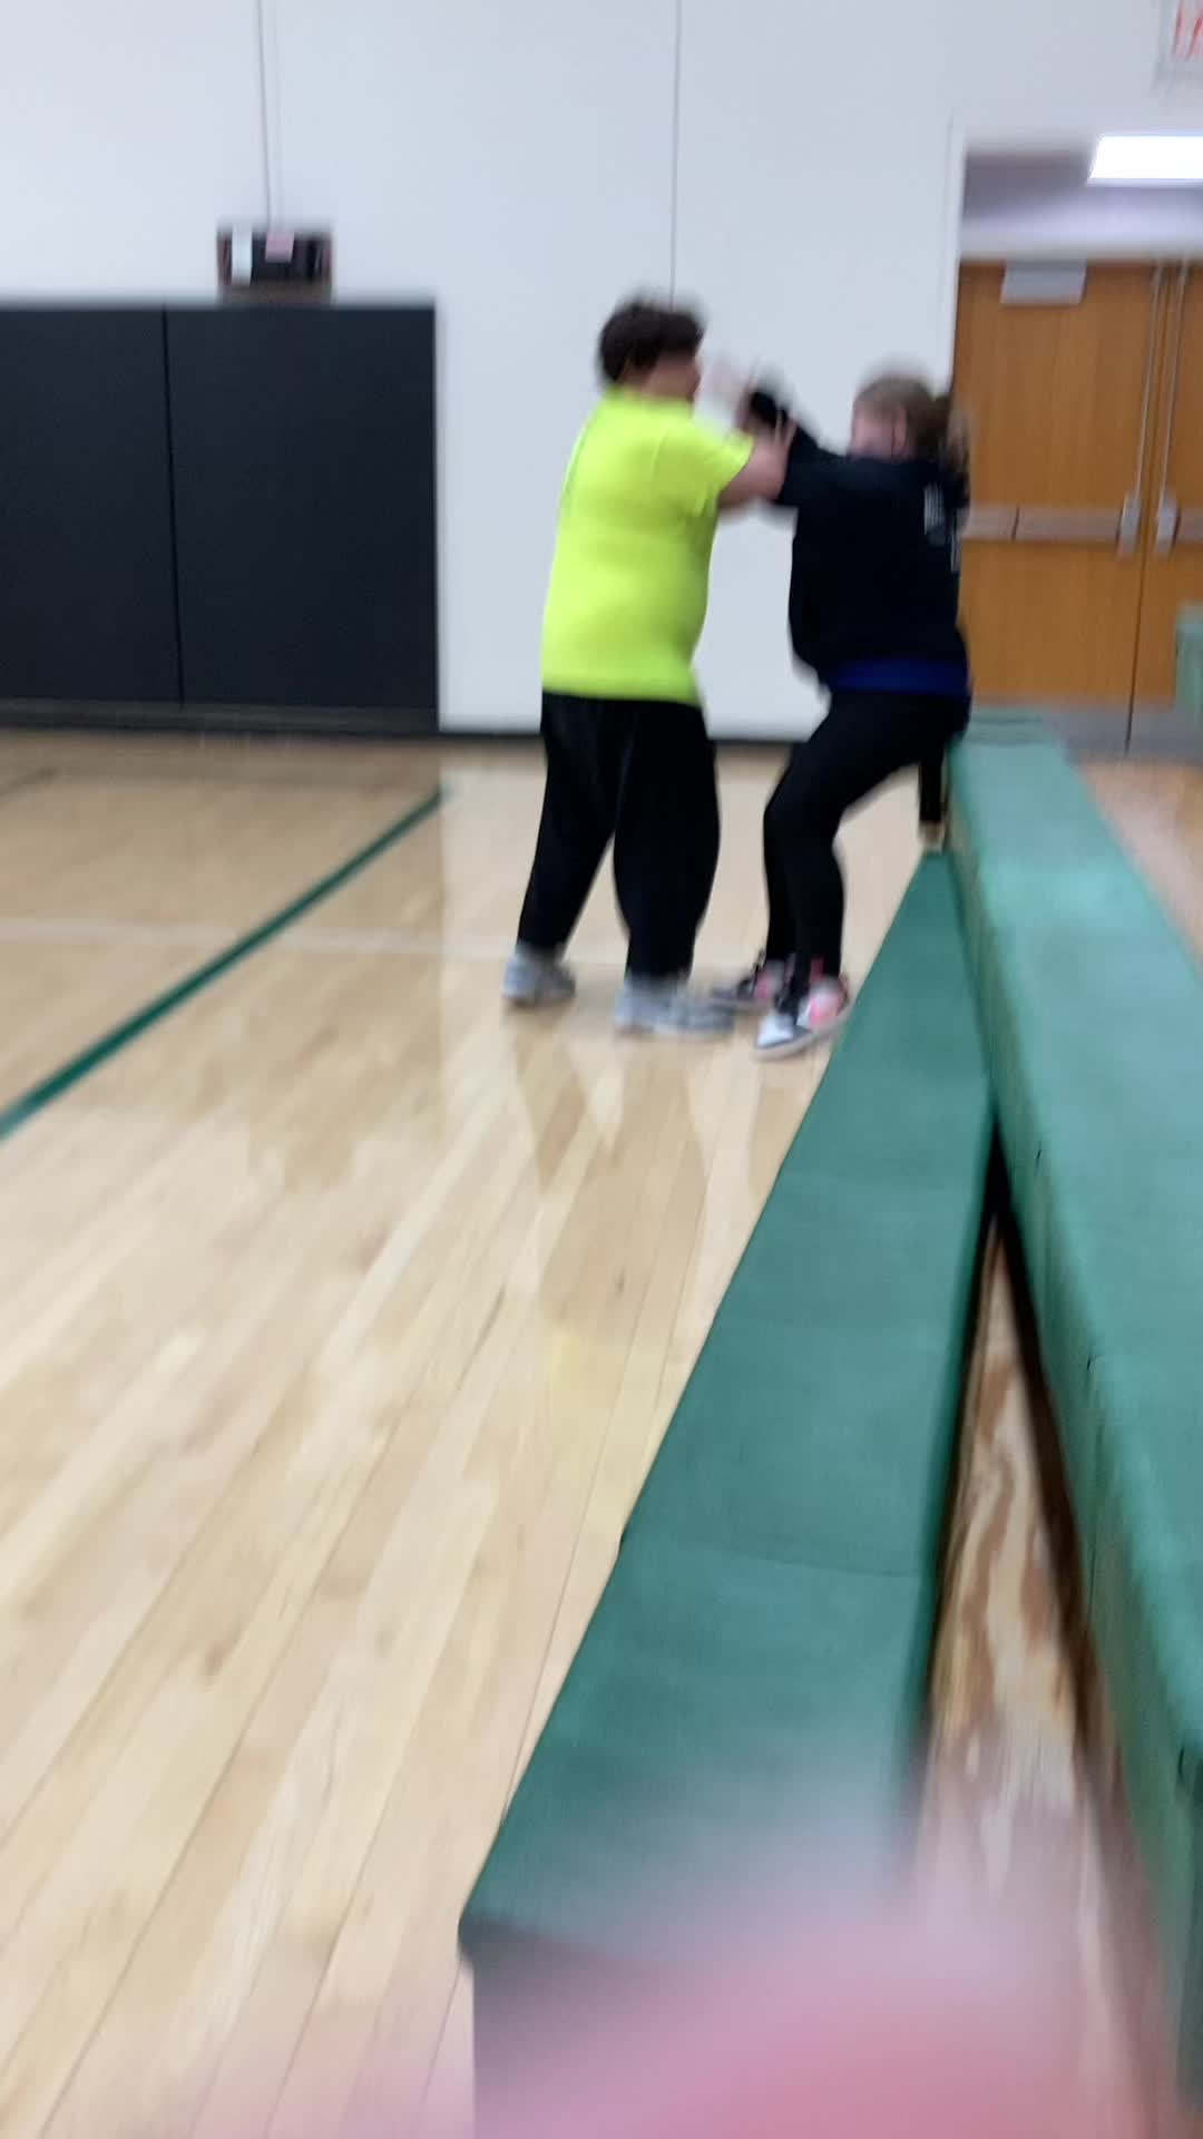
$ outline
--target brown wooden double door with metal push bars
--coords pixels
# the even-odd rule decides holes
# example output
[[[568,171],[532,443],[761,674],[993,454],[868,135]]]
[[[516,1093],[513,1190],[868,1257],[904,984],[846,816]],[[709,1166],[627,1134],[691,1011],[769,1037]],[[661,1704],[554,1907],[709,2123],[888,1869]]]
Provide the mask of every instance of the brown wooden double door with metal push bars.
[[[978,699],[1164,725],[1203,603],[1203,265],[965,265],[955,379]]]

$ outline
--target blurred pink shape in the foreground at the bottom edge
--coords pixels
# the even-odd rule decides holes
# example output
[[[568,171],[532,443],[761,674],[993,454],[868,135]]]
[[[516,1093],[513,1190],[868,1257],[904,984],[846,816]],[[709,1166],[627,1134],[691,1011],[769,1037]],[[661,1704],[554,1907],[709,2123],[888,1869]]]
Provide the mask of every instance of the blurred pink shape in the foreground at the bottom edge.
[[[1064,1981],[1038,1923],[828,1917],[554,2038],[531,2009],[482,2139],[1094,2139]]]

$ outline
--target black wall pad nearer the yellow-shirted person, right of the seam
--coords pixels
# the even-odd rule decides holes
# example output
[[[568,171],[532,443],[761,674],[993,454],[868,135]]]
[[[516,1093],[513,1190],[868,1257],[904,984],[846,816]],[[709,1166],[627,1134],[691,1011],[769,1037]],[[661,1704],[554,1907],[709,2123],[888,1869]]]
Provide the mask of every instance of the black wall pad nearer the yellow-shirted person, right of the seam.
[[[184,699],[432,732],[432,310],[173,308],[167,357]]]

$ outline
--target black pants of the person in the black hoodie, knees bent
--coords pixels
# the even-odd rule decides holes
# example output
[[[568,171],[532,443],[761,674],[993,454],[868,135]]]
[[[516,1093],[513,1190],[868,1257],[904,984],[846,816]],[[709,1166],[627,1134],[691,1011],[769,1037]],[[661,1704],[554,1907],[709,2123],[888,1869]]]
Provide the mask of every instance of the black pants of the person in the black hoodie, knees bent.
[[[843,875],[835,834],[846,811],[882,781],[918,766],[959,736],[963,699],[837,691],[826,721],[794,744],[764,811],[768,888],[766,956],[794,960],[807,982],[843,963]]]

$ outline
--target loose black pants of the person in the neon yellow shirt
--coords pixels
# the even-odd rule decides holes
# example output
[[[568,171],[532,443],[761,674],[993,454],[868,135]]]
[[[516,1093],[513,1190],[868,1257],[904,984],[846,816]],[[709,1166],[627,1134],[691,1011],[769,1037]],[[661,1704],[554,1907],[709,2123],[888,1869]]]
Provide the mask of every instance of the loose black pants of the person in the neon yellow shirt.
[[[627,971],[689,973],[719,862],[715,747],[698,706],[544,695],[548,781],[518,941],[559,952],[614,841]]]

